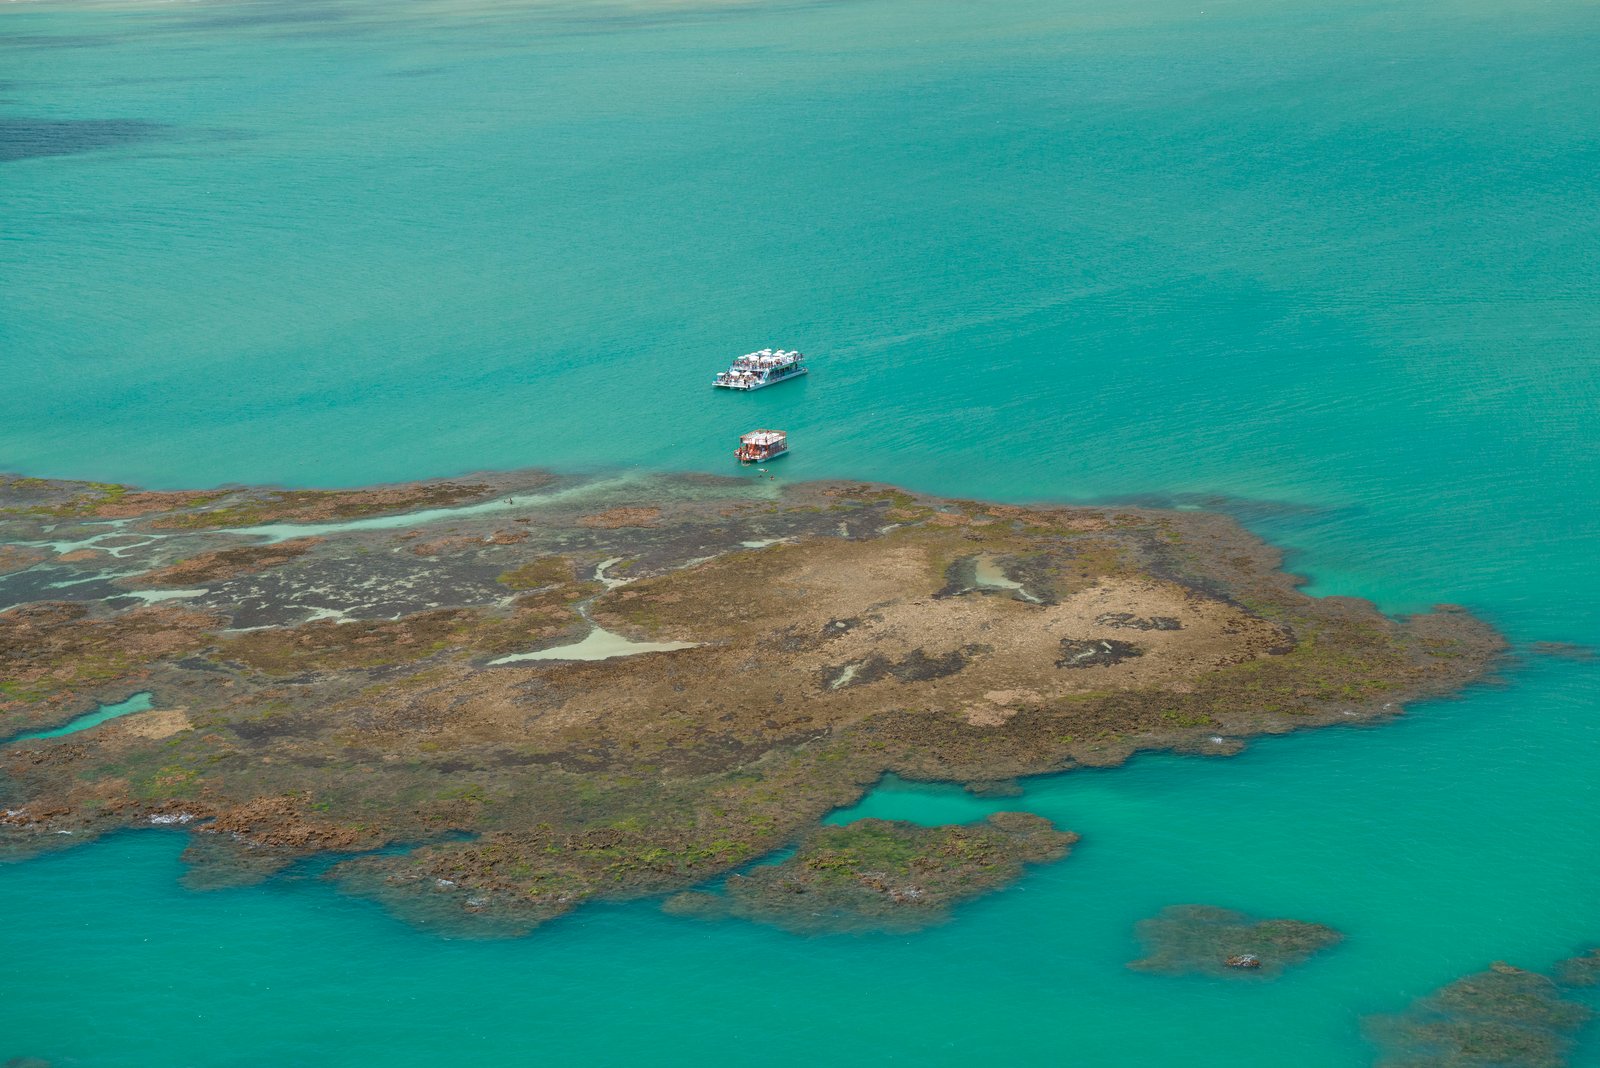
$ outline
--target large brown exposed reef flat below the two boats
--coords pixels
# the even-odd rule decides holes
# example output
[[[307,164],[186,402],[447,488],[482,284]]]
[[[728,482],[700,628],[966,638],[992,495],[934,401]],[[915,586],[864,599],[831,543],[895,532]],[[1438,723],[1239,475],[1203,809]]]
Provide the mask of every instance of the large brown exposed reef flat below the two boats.
[[[1306,596],[1218,515],[864,484],[8,480],[0,544],[0,737],[155,703],[0,748],[0,852],[181,827],[202,884],[366,852],[333,878],[498,929],[742,868],[886,772],[1226,755],[1502,649]],[[510,659],[597,628],[608,659]]]

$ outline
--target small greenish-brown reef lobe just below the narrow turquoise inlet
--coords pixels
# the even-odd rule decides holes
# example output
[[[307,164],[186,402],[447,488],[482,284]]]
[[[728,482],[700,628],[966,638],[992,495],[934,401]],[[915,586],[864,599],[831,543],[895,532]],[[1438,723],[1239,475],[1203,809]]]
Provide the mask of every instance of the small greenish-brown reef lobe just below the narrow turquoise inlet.
[[[1077,839],[1029,812],[952,827],[856,820],[811,831],[781,863],[731,876],[723,895],[678,894],[667,911],[739,916],[805,934],[915,931],[1016,881],[1024,863],[1059,860]]]

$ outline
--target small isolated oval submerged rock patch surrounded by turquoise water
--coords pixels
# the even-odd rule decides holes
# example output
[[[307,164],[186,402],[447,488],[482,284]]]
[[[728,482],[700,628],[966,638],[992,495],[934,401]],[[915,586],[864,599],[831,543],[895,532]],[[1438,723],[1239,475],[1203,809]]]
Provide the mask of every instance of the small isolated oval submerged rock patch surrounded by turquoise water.
[[[1162,975],[1278,975],[1338,943],[1333,927],[1254,919],[1211,905],[1173,905],[1139,923],[1146,954],[1128,967]]]

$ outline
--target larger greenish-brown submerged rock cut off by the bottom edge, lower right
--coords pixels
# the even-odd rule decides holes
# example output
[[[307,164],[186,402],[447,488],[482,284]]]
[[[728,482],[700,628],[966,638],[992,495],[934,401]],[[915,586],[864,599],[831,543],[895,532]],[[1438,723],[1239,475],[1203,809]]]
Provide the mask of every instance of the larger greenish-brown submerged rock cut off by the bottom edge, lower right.
[[[1384,1068],[1562,1068],[1587,1018],[1549,977],[1496,961],[1368,1030]]]

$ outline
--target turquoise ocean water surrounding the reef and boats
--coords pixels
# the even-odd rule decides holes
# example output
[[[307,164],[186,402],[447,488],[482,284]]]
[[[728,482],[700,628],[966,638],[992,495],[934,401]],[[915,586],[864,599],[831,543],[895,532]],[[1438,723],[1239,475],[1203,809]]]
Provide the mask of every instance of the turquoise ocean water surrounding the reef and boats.
[[[786,478],[1210,502],[1320,593],[1600,644],[1592,3],[19,3],[0,78],[3,468],[723,472],[781,425]],[[762,345],[814,374],[710,393]],[[1362,1065],[1363,1014],[1600,940],[1597,767],[1600,665],[1530,656],[1032,782],[1082,846],[914,937],[445,940],[130,833],[0,868],[0,1060]],[[1184,902],[1347,938],[1125,970]]]

